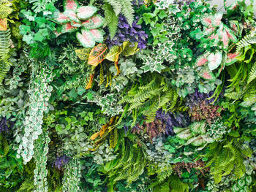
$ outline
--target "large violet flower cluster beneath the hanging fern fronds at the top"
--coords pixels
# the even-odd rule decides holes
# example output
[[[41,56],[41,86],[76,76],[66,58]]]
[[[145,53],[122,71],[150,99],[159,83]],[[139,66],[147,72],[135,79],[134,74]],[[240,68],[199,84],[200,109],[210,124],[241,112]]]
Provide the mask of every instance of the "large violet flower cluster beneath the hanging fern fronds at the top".
[[[138,42],[138,47],[140,49],[146,49],[148,34],[146,34],[140,25],[137,25],[139,17],[136,16],[132,23],[132,27],[127,23],[126,18],[123,15],[119,16],[118,30],[116,31],[116,36],[111,40],[110,37],[107,39],[108,47],[113,45],[121,45],[125,41]]]

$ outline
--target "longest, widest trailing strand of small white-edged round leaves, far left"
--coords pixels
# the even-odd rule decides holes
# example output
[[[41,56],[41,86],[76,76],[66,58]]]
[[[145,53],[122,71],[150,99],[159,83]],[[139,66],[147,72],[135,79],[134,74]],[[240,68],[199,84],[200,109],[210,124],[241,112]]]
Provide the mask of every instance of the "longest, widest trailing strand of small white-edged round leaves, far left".
[[[34,74],[32,74],[34,75]],[[16,142],[20,142],[18,157],[23,157],[24,164],[29,162],[34,155],[34,140],[42,134],[43,113],[51,109],[48,101],[53,87],[48,85],[53,80],[53,73],[50,69],[41,69],[35,75],[30,90],[29,111],[24,120],[24,135],[17,135]],[[33,79],[33,78],[32,78]]]

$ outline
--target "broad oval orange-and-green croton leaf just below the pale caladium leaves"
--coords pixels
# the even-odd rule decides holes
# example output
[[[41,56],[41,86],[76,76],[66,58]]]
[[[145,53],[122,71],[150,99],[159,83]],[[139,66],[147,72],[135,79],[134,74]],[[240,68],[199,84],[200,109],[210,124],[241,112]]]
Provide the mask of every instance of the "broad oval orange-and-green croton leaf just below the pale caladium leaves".
[[[97,66],[105,59],[107,53],[107,45],[99,43],[99,45],[95,46],[91,50],[91,53],[89,54],[88,58],[88,64],[91,66]]]

